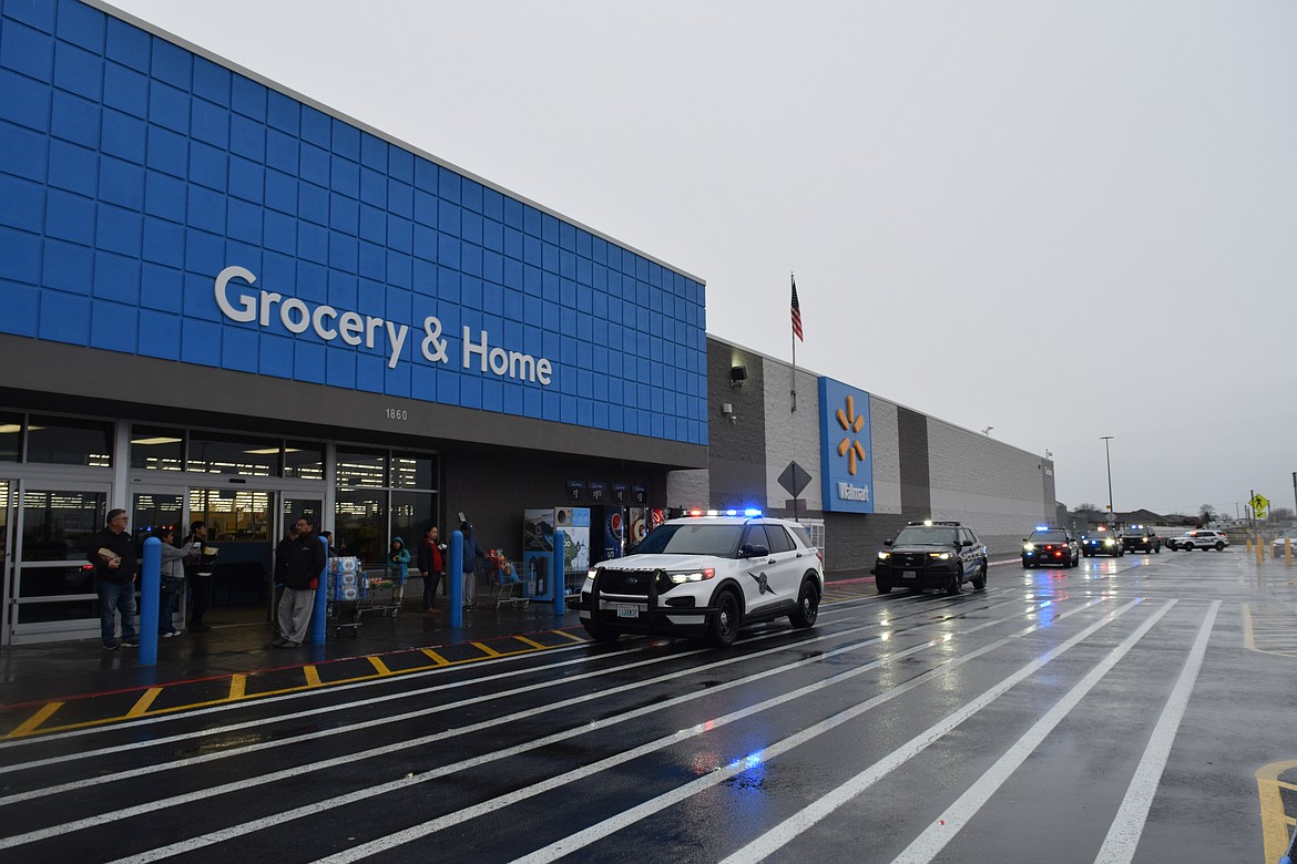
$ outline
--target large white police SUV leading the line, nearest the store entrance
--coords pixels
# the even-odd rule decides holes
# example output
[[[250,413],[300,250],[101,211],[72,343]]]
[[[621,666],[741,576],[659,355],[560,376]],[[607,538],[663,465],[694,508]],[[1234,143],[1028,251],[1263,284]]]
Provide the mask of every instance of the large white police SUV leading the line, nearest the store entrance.
[[[571,605],[593,639],[661,633],[724,648],[744,624],[783,615],[815,624],[824,560],[802,525],[759,510],[690,513],[586,574]]]

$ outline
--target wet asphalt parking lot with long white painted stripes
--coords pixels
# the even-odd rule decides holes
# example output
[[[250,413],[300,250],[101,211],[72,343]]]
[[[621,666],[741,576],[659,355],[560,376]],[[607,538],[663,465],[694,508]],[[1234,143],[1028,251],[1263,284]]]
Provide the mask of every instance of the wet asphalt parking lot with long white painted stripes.
[[[556,639],[9,737],[0,855],[1272,864],[1294,574],[1163,551],[861,583],[728,650]]]

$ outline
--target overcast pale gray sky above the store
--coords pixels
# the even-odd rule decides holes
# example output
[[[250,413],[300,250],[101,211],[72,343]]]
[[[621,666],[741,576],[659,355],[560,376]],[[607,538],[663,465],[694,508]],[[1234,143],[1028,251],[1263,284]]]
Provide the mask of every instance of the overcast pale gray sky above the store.
[[[707,281],[707,330],[1035,453],[1294,506],[1297,3],[115,0]]]

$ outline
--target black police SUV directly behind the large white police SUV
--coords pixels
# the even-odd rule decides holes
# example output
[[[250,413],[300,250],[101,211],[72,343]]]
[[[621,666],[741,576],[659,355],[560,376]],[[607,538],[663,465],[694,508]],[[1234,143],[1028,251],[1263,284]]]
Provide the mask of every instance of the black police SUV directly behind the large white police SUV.
[[[986,588],[986,547],[973,529],[958,522],[910,522],[874,561],[874,587],[878,593],[892,588],[943,588],[948,595],[964,591],[964,583]]]

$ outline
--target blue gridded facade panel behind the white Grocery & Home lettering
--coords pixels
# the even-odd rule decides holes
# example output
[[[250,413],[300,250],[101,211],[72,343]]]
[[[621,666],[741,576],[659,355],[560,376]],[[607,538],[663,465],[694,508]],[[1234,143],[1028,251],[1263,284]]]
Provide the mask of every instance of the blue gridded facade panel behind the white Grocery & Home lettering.
[[[0,92],[0,332],[707,443],[682,273],[77,0]]]

